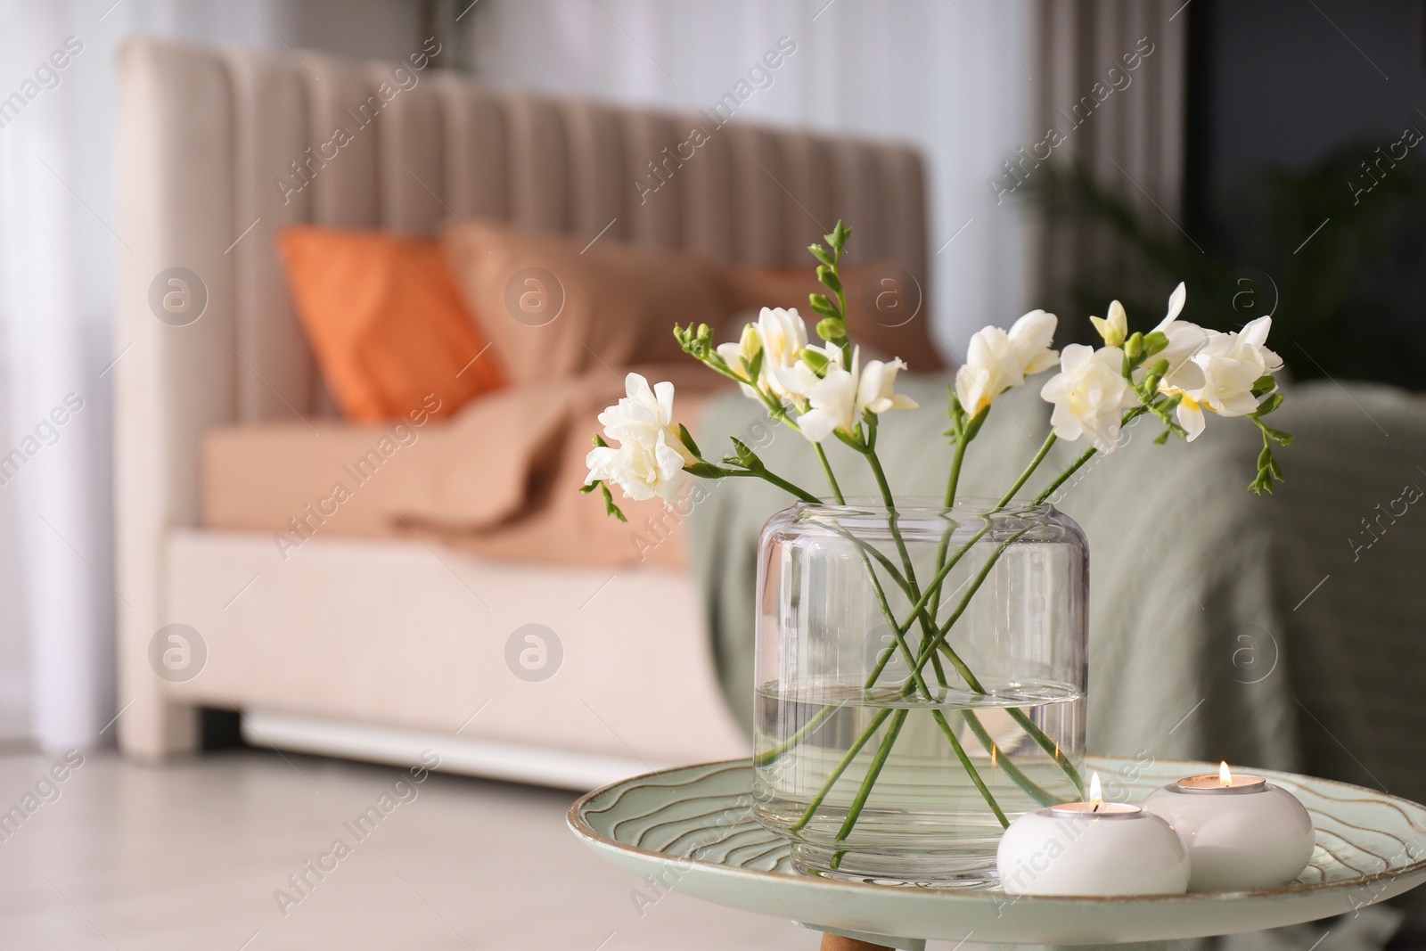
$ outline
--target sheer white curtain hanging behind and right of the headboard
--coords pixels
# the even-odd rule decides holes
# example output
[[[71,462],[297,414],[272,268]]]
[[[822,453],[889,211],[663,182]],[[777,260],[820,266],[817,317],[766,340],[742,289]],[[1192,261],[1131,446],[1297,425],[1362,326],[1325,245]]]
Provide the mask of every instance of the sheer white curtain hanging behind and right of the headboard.
[[[1034,141],[1028,0],[482,0],[476,16],[485,78],[669,108],[710,108],[789,37],[796,53],[739,117],[925,151],[944,349],[963,356],[1027,309],[1032,235],[988,180]]]

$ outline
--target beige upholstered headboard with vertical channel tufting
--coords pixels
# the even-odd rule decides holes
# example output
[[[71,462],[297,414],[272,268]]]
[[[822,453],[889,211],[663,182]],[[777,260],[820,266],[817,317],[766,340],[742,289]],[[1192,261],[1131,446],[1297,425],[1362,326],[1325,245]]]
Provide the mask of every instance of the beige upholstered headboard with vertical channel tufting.
[[[908,147],[492,88],[442,74],[434,51],[394,64],[157,40],[121,50],[116,227],[130,252],[117,262],[114,402],[125,643],[165,623],[163,536],[197,523],[202,431],[331,412],[274,250],[287,224],[429,232],[452,214],[489,215],[807,264],[806,245],[841,217],[856,228],[853,259],[893,259],[925,281],[923,165]],[[124,677],[151,676],[134,662],[137,640],[120,652],[121,696],[133,696]],[[150,716],[161,711],[135,707],[124,721]]]

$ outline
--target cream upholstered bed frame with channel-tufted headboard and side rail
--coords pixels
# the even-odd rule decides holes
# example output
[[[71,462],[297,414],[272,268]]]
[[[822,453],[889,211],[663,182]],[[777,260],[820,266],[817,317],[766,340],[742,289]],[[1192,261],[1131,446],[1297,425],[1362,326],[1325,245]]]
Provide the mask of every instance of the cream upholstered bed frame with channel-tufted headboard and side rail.
[[[452,214],[488,215],[804,264],[809,241],[844,217],[861,259],[925,278],[911,148],[552,100],[439,61],[434,41],[402,64],[150,38],[118,56],[118,231],[133,252],[117,268],[114,508],[130,757],[195,750],[200,707],[240,710],[254,743],[394,763],[434,749],[443,768],[570,787],[746,753],[686,573],[337,538],[284,562],[267,536],[200,526],[205,429],[334,415],[274,251],[284,225],[426,234]],[[694,125],[709,135],[690,155]],[[171,268],[197,281],[171,284]],[[563,649],[542,682],[505,660],[529,623]]]

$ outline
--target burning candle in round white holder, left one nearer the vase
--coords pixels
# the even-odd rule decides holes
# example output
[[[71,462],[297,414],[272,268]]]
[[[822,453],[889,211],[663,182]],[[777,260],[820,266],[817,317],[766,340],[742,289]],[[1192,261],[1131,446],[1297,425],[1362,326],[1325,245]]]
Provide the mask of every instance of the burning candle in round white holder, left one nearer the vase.
[[[1089,800],[1025,813],[1001,836],[1000,885],[1012,895],[1179,894],[1188,855],[1158,816],[1105,803],[1099,774]]]

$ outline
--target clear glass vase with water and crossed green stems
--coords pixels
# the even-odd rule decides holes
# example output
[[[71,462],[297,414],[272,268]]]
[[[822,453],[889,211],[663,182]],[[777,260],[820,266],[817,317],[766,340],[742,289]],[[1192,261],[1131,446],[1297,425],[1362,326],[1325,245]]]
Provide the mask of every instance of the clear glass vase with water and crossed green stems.
[[[1084,532],[1050,505],[774,515],[754,797],[794,865],[985,885],[1005,823],[1084,798],[1088,585]]]

